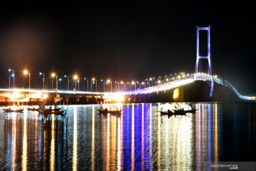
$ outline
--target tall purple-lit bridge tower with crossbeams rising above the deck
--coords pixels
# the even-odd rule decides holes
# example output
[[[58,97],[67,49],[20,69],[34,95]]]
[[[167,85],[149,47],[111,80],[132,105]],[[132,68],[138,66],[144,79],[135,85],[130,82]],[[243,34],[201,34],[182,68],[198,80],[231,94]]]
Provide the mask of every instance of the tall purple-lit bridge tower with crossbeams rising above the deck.
[[[200,56],[199,54],[199,31],[207,31],[208,33],[208,52],[207,56]],[[210,83],[210,97],[213,96],[213,77],[212,77],[212,68],[211,68],[211,63],[210,63],[210,26],[208,27],[196,27],[196,71],[195,71],[195,77],[197,76],[198,73],[198,65],[199,65],[199,60],[200,59],[206,59],[208,60],[208,71],[207,73],[211,76],[211,83]]]

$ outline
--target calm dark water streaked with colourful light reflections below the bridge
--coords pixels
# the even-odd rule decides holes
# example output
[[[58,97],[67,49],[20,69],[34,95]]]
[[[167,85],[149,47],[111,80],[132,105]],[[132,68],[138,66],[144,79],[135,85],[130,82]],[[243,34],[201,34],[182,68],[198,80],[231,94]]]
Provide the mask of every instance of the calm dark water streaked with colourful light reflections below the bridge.
[[[69,105],[68,120],[0,112],[2,170],[203,170],[205,162],[255,161],[255,104],[195,103],[186,118],[161,117],[175,104]],[[188,109],[187,104],[181,108]]]

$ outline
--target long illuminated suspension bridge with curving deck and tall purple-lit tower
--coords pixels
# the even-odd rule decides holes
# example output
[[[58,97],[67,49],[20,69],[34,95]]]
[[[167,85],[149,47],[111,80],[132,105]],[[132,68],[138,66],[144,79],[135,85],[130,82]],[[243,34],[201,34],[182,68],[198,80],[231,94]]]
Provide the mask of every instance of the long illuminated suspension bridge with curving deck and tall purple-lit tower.
[[[200,56],[199,55],[199,33],[200,31],[207,31],[208,32],[208,53],[206,56]],[[199,71],[200,70],[200,62],[202,60],[206,60],[208,63],[208,69],[207,71]],[[238,90],[233,86],[231,83],[229,83],[226,80],[223,80],[223,78],[220,78],[218,76],[213,76],[212,73],[212,66],[211,66],[211,60],[210,60],[210,26],[209,27],[197,27],[196,28],[196,69],[195,73],[188,73],[183,74],[181,77],[170,79],[168,82],[160,83],[156,86],[149,86],[134,90],[123,90],[116,92],[92,92],[92,91],[79,91],[79,90],[58,90],[58,89],[31,89],[31,88],[0,88],[0,99],[1,101],[15,101],[15,99],[24,100],[28,98],[46,98],[47,93],[50,94],[56,94],[56,95],[100,95],[100,97],[105,98],[112,98],[114,96],[118,95],[146,95],[151,93],[158,93],[161,91],[166,90],[172,90],[174,88],[179,88],[182,86],[186,86],[188,84],[191,84],[195,81],[204,81],[208,83],[210,87],[210,93],[209,96],[213,96],[213,86],[214,84],[218,84],[221,86],[225,86],[226,88],[230,88],[230,90],[235,93],[235,95],[238,96],[241,100],[255,100],[255,95],[242,95],[238,92]],[[18,95],[19,94],[19,95]],[[23,94],[23,95],[21,95]],[[24,95],[26,94],[26,95]],[[26,101],[26,100],[24,100]]]

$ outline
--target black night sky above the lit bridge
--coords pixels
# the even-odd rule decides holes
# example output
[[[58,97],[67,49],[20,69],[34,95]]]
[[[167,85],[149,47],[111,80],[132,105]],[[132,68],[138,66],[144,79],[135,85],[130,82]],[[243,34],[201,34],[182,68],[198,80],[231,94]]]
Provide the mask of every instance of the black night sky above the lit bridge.
[[[252,10],[220,4],[209,11],[190,4],[181,10],[108,6],[2,7],[0,87],[8,87],[8,68],[17,79],[24,67],[32,78],[39,71],[112,80],[192,73],[196,26],[210,26],[213,74],[241,93],[256,92]]]

